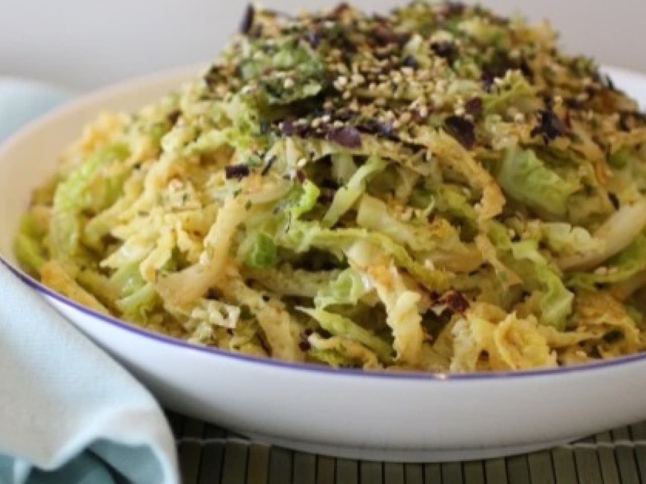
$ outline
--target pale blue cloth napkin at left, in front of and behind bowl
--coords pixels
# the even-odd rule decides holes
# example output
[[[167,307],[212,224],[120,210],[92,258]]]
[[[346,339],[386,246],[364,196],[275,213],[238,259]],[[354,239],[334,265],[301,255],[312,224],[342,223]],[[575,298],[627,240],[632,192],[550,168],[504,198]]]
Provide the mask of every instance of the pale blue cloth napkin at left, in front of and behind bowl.
[[[21,112],[17,92],[0,79],[0,141],[53,103],[23,96],[25,116],[7,119]],[[178,483],[163,412],[0,263],[0,484],[114,484],[109,468],[133,484]]]

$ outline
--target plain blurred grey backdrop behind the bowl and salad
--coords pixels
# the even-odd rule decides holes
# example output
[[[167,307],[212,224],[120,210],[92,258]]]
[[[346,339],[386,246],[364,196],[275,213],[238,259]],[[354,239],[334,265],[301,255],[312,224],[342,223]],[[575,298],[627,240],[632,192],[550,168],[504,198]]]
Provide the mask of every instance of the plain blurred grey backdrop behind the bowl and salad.
[[[326,0],[265,0],[295,11]],[[354,0],[368,10],[398,0]],[[572,52],[646,72],[646,1],[485,0],[501,12],[549,18]],[[245,1],[0,0],[0,76],[93,88],[169,66],[213,58],[236,30]]]

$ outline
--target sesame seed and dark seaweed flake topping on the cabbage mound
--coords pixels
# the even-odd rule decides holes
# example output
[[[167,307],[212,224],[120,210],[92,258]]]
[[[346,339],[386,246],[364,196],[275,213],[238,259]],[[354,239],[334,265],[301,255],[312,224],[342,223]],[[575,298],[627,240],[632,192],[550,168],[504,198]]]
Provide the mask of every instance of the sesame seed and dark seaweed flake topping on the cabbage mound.
[[[477,150],[492,144],[483,128],[492,121],[525,123],[549,143],[570,136],[563,119],[589,123],[590,108],[625,103],[587,59],[554,48],[552,32],[481,6],[414,1],[383,16],[341,3],[297,17],[249,6],[241,32],[205,80],[214,96],[242,92],[256,106],[264,150],[273,136],[346,148],[359,148],[361,134],[404,141],[419,125],[444,126]]]

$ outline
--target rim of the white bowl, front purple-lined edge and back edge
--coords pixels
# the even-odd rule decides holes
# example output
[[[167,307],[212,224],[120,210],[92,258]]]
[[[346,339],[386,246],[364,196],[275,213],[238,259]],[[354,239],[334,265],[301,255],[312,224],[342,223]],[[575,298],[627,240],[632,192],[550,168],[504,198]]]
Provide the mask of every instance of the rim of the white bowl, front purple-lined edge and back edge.
[[[68,112],[73,112],[77,110],[80,106],[87,103],[95,103],[101,98],[106,96],[113,96],[121,92],[122,90],[136,90],[142,88],[143,86],[160,79],[160,77],[181,77],[184,75],[189,75],[191,71],[199,72],[207,63],[198,63],[186,66],[180,66],[177,68],[161,70],[159,72],[154,72],[152,74],[147,74],[145,76],[135,77],[127,81],[122,81],[115,85],[107,86],[96,91],[92,91],[89,94],[77,97],[68,103],[64,103],[58,108],[48,112],[44,116],[41,116],[28,123],[28,125],[19,129],[15,134],[8,137],[3,143],[0,143],[0,160],[5,156],[5,152],[8,152],[10,148],[23,139],[32,136],[33,132],[36,132],[41,128],[41,126],[47,125],[52,119],[57,119],[59,117],[64,117]],[[614,66],[604,66],[603,70],[609,72],[610,74],[619,74],[620,76],[625,76],[630,78],[632,81],[640,81],[646,86],[646,74],[641,74],[640,72],[635,72],[632,70],[627,70],[625,68],[617,68]],[[68,299],[61,294],[58,294],[54,290],[46,287],[40,281],[34,279],[16,264],[8,261],[7,257],[0,253],[0,264],[4,265],[12,274],[14,274],[21,283],[25,283],[28,287],[39,292],[41,296],[46,296],[54,301],[61,303],[69,308],[77,310],[85,316],[90,318],[97,319],[102,323],[107,323],[112,327],[118,328],[134,334],[136,336],[141,336],[143,338],[149,339],[154,343],[162,343],[164,345],[170,345],[174,348],[185,348],[187,350],[193,350],[202,354],[213,355],[220,358],[227,358],[233,361],[238,361],[240,363],[246,363],[251,365],[261,365],[263,367],[273,367],[284,370],[291,370],[294,372],[310,372],[326,376],[339,376],[344,378],[370,378],[370,379],[384,379],[384,380],[399,380],[399,381],[503,381],[507,379],[527,379],[527,378],[537,378],[537,377],[550,377],[561,374],[581,374],[589,373],[596,370],[608,370],[610,368],[621,367],[624,365],[630,365],[631,363],[643,363],[646,361],[646,352],[636,353],[627,356],[619,356],[612,359],[607,359],[603,361],[596,361],[593,363],[584,363],[581,365],[574,365],[571,367],[555,367],[555,368],[537,368],[535,370],[517,370],[517,371],[496,371],[496,372],[470,372],[470,373],[451,373],[451,372],[414,372],[411,370],[406,371],[388,371],[388,370],[362,370],[358,368],[332,368],[324,365],[317,365],[316,363],[293,363],[289,361],[282,361],[279,359],[260,357],[260,356],[251,356],[242,353],[236,353],[232,351],[222,350],[220,348],[207,347],[203,345],[196,345],[194,343],[189,343],[183,339],[174,338],[172,336],[167,336],[158,332],[153,332],[142,327],[136,326],[134,323],[129,323],[122,319],[116,318],[115,316],[101,314],[95,310],[92,310],[89,307],[85,307],[72,299]],[[66,318],[67,319],[67,318]],[[68,321],[73,325],[71,321]]]

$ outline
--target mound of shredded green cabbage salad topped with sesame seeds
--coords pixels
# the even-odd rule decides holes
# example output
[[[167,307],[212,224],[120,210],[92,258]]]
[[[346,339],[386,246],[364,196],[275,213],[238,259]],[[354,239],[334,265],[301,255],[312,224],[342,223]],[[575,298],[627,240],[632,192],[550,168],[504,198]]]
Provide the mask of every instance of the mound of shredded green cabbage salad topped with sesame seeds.
[[[556,41],[461,3],[249,7],[207,72],[85,128],[17,257],[97,312],[286,361],[639,352],[646,118]]]

